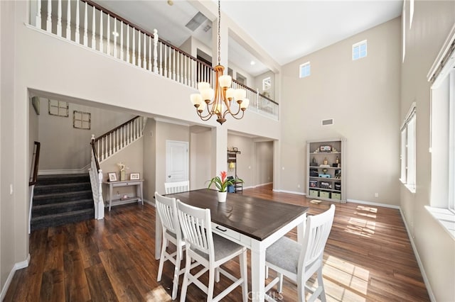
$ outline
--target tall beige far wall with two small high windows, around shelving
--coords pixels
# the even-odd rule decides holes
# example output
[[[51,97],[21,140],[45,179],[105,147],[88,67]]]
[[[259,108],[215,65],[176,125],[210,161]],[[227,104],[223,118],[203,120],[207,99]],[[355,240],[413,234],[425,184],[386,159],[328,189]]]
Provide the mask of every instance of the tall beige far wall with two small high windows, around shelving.
[[[304,193],[306,140],[345,137],[348,200],[399,203],[400,36],[395,18],[282,67],[281,189]],[[353,61],[361,40],[368,56]],[[311,76],[299,79],[308,61]]]

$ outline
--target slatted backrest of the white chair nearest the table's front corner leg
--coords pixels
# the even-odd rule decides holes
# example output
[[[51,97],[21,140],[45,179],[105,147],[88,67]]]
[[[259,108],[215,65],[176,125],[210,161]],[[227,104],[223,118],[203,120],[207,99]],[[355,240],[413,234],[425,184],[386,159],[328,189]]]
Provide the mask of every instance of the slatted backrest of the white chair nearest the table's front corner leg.
[[[177,200],[178,221],[180,221],[186,245],[191,250],[205,252],[213,259],[213,235],[210,209],[190,206]]]

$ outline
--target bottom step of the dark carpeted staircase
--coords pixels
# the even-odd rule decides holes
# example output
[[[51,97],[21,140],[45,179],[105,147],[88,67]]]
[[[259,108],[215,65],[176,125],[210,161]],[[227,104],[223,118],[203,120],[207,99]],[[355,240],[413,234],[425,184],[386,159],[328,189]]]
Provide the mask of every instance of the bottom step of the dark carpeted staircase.
[[[46,216],[38,216],[31,218],[31,230],[38,230],[40,228],[50,228],[58,225],[65,225],[68,223],[77,223],[83,220],[90,220],[95,218],[95,209],[88,208],[79,211],[57,213]]]

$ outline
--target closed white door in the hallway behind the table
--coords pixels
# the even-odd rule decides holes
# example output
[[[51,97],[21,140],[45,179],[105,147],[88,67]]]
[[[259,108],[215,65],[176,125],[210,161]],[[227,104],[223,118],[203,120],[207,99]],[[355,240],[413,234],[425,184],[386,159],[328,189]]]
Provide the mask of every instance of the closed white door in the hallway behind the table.
[[[166,140],[166,182],[188,180],[188,142]]]

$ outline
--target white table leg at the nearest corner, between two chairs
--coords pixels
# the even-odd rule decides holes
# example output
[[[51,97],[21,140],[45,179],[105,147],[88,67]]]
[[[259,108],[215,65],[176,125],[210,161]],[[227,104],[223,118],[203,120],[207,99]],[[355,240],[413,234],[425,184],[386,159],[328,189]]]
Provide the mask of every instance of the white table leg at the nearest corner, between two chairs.
[[[265,248],[259,242],[252,242],[251,249],[251,291],[248,298],[252,301],[264,301],[265,284]]]

